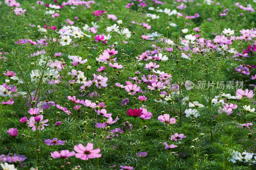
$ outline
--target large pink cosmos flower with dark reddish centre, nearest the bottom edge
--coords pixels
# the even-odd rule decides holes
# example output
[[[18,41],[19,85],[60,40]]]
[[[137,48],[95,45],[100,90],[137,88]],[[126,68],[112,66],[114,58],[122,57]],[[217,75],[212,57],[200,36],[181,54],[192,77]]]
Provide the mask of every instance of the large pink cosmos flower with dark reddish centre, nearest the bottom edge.
[[[76,153],[76,158],[82,159],[82,160],[88,160],[89,158],[100,158],[100,148],[93,149],[92,143],[87,143],[86,147],[84,147],[83,144],[78,144],[74,146],[74,150]]]

